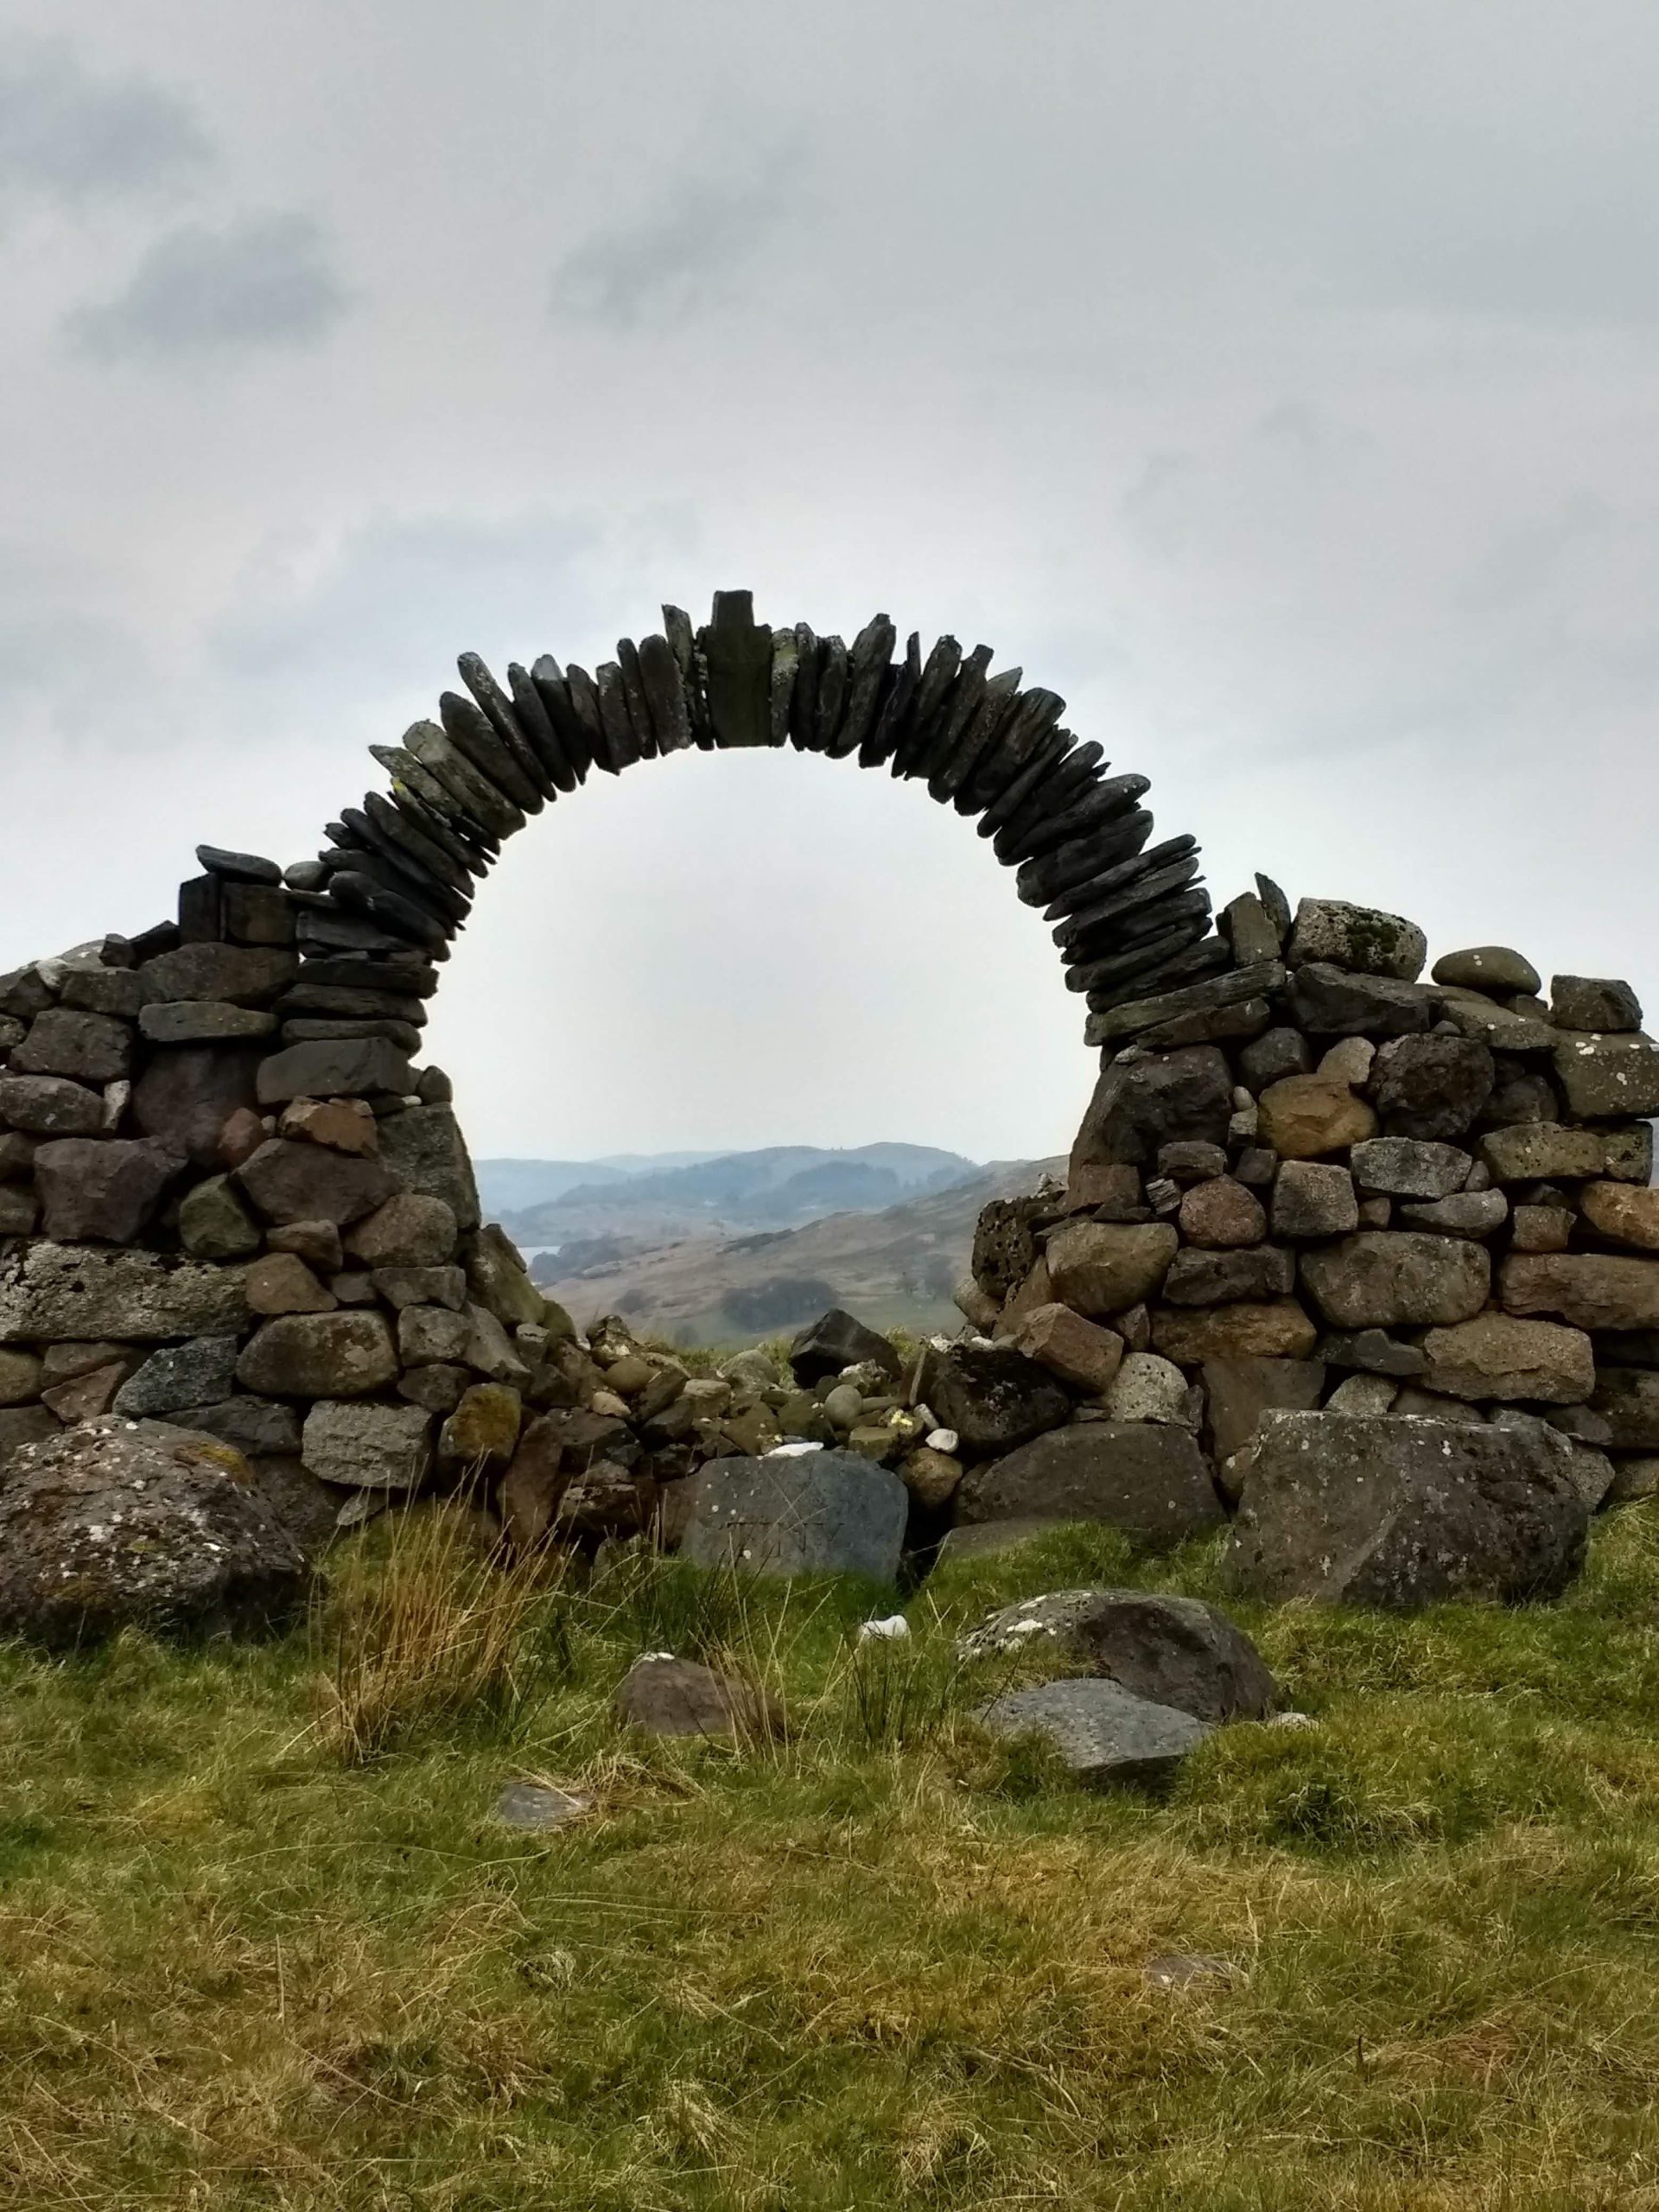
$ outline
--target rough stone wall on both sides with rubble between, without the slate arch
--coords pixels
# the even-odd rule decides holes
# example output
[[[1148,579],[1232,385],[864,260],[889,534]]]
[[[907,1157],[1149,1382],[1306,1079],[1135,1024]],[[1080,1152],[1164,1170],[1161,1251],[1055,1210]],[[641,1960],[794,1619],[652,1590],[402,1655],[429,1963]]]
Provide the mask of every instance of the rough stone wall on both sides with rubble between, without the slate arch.
[[[482,1484],[509,1542],[593,1546],[679,1542],[710,1462],[752,1489],[796,1442],[889,1471],[880,1542],[852,1526],[843,1564],[889,1557],[900,1522],[925,1548],[1241,1511],[1272,1588],[1267,1416],[1349,1458],[1354,1422],[1475,1425],[1509,1433],[1469,1464],[1524,1460],[1555,1515],[1537,1557],[1471,1568],[1506,1595],[1571,1573],[1575,1500],[1652,1486],[1659,1046],[1619,980],[1544,1000],[1478,947],[1420,982],[1413,925],[1292,916],[1263,883],[1225,909],[1232,967],[1095,1015],[1068,1179],[984,1210],[956,1340],[905,1367],[827,1314],[787,1376],[757,1352],[692,1376],[624,1321],[580,1336],[482,1223],[449,1082],[409,1060],[436,947],[323,914],[307,869],[201,858],[179,925],[0,978],[0,1480],[126,1416],[347,1522],[358,1491]]]

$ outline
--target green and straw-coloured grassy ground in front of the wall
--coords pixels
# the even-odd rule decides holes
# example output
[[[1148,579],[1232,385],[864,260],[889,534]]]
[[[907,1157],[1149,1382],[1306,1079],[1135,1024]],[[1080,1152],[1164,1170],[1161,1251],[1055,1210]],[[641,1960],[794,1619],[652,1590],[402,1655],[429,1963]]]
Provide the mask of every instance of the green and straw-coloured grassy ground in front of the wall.
[[[1066,1531],[858,1659],[872,1593],[646,1564],[480,1641],[467,1562],[374,1533],[263,1650],[7,1655],[4,2203],[1659,2205],[1659,1517],[1559,1606],[1234,1608],[1318,1725],[1161,1801],[964,1721],[987,1606],[1212,1577]],[[661,1646],[792,1739],[619,1739]],[[515,1776],[599,1812],[495,1827]]]

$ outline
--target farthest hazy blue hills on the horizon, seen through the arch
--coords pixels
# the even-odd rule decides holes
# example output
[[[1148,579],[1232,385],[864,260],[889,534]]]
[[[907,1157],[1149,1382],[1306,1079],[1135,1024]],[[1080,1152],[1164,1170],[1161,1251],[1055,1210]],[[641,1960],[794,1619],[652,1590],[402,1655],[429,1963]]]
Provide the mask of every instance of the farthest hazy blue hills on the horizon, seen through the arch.
[[[566,1170],[562,1161],[544,1166],[553,1177]],[[929,1144],[863,1144],[847,1150],[779,1144],[635,1175],[617,1175],[613,1168],[562,1181],[557,1190],[518,1206],[500,1199],[493,1203],[502,1228],[531,1250],[615,1239],[659,1245],[710,1230],[792,1230],[830,1212],[878,1212],[931,1190],[949,1190],[978,1172],[960,1152]],[[529,1188],[529,1177],[515,1188]]]

